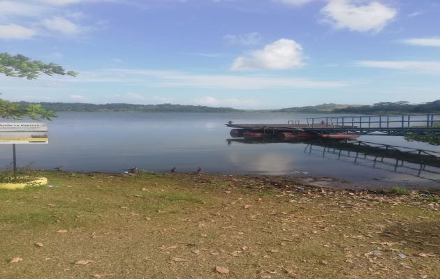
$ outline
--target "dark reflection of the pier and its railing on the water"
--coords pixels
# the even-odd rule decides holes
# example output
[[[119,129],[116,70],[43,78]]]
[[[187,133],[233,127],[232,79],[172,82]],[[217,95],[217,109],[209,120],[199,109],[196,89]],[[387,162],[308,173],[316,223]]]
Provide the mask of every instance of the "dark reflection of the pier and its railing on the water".
[[[228,139],[228,144],[306,144],[304,153],[355,165],[440,181],[440,152],[355,140],[279,140],[277,137]]]

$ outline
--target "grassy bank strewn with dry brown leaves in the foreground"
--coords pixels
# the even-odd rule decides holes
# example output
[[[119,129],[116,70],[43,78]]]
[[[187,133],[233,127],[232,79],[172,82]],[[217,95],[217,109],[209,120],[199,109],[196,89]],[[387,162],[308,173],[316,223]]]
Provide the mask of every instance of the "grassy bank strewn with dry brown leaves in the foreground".
[[[436,196],[276,176],[43,175],[54,187],[0,190],[0,278],[440,274]]]

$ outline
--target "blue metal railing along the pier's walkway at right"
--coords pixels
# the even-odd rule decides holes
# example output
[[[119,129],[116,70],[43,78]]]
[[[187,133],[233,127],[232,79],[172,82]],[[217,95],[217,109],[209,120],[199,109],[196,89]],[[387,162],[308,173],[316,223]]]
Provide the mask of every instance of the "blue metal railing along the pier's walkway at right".
[[[360,115],[307,118],[309,128],[433,128],[440,114]]]

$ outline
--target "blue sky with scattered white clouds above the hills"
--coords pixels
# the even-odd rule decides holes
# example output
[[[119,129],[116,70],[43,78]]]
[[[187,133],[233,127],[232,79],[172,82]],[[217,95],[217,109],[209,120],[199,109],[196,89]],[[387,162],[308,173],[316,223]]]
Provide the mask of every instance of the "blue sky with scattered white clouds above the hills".
[[[8,100],[244,109],[440,99],[437,0],[0,0]]]

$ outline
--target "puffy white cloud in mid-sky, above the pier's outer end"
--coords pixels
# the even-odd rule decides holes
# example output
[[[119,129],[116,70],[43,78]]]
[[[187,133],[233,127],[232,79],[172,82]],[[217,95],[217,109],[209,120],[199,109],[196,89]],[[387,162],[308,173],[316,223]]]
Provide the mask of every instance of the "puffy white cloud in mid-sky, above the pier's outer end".
[[[302,46],[295,40],[279,39],[263,50],[235,59],[231,70],[286,70],[304,65]]]

